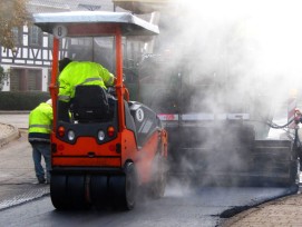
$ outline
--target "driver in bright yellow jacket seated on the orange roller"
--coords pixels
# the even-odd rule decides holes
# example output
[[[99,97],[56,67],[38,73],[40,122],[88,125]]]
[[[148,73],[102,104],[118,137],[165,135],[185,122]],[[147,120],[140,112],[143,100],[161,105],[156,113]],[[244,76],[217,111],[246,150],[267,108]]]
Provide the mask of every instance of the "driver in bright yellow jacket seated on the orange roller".
[[[72,61],[64,58],[59,61],[59,106],[66,110],[59,114],[59,119],[67,120],[68,107],[70,100],[75,97],[76,86],[79,85],[98,85],[103,88],[113,86],[115,77],[106,68],[96,62],[90,61]],[[92,97],[89,97],[92,98]]]

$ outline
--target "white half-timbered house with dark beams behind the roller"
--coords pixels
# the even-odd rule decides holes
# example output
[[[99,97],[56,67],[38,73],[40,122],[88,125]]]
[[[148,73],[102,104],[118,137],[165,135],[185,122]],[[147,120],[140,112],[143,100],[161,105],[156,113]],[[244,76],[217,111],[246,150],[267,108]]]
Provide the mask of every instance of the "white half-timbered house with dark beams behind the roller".
[[[119,11],[110,0],[30,0],[30,13],[75,10]],[[2,91],[48,91],[52,60],[52,36],[38,27],[14,29],[16,49],[0,47],[0,66],[4,69]],[[74,40],[75,41],[75,40]],[[75,45],[85,48],[85,40]],[[70,57],[66,52],[67,42],[60,43],[60,58]],[[72,45],[69,42],[69,47]],[[77,50],[75,50],[77,51]],[[80,50],[78,50],[80,51]],[[75,52],[74,52],[75,55]],[[72,56],[71,56],[72,57]]]

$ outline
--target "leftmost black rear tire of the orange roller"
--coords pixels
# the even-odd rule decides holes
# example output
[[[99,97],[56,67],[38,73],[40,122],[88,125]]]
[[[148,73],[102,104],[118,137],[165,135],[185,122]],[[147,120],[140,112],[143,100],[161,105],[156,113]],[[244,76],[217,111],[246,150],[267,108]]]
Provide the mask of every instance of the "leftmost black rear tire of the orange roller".
[[[67,199],[67,177],[64,175],[52,175],[50,180],[50,198],[56,209],[67,209],[70,204]]]

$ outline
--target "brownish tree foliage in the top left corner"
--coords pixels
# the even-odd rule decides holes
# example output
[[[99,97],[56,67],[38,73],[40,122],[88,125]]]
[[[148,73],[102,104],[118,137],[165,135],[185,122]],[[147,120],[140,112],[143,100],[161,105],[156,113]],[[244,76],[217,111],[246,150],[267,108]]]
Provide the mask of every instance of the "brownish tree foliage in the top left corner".
[[[30,22],[26,3],[27,0],[0,0],[0,46],[13,49],[16,41],[12,29]]]

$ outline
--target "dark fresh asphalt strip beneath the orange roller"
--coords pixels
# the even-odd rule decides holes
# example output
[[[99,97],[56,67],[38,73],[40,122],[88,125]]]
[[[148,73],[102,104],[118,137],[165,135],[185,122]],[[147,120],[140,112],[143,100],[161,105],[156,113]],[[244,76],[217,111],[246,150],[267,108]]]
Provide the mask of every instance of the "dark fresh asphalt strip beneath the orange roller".
[[[27,116],[0,116],[0,121],[20,128],[27,127]],[[27,140],[18,141],[9,152],[30,154]],[[6,149],[6,147],[3,148]],[[1,150],[4,152],[6,150]],[[29,160],[28,160],[29,161]],[[2,160],[2,165],[6,160]],[[4,169],[2,169],[4,171]],[[26,176],[23,176],[26,177]],[[30,179],[31,177],[31,179]],[[32,180],[32,176],[28,176]],[[1,184],[1,182],[0,182]],[[37,186],[38,187],[38,186]],[[0,185],[0,189],[1,189]],[[6,187],[7,190],[10,188]],[[2,193],[2,191],[0,191]],[[184,181],[169,181],[164,198],[150,200],[140,197],[130,211],[81,210],[58,211],[47,194],[31,201],[0,209],[1,226],[129,226],[129,227],[177,227],[177,226],[218,226],[224,218],[250,206],[261,204],[291,193],[290,188],[255,187],[188,187]],[[8,194],[9,195],[9,194]],[[9,199],[6,198],[6,199]]]

